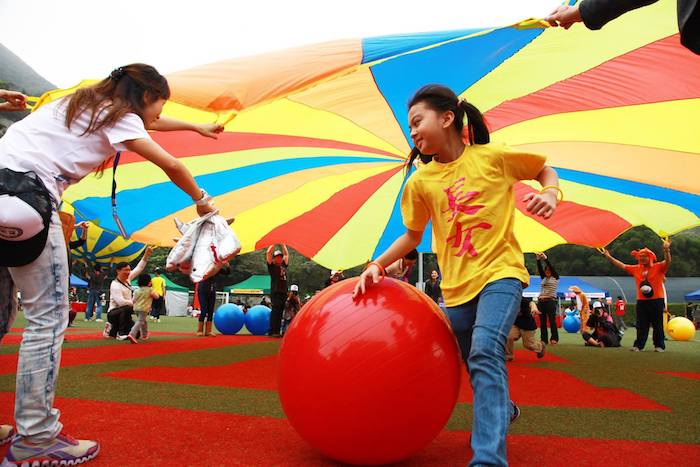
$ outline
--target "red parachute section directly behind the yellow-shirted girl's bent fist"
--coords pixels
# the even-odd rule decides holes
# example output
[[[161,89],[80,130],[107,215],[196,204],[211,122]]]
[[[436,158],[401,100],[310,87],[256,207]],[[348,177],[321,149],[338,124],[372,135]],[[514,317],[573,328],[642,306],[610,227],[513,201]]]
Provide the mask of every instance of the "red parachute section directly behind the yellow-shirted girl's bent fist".
[[[632,224],[613,212],[571,201],[559,203],[556,216],[549,219],[537,217],[527,212],[526,204],[523,202],[526,194],[536,193],[537,190],[524,183],[516,183],[513,190],[515,207],[521,213],[558,233],[567,243],[599,247],[609,244],[615,240],[619,232],[632,227]]]

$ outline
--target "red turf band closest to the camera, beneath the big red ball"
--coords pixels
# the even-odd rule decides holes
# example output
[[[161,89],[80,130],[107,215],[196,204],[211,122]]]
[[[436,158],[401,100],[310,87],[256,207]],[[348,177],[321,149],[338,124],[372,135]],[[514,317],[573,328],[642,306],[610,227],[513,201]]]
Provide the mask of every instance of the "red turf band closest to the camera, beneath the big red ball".
[[[0,393],[0,413],[11,413],[12,393]],[[101,442],[90,466],[114,465],[338,465],[320,457],[285,419],[170,409],[84,399],[56,398],[65,432]],[[527,417],[527,412],[523,417]],[[135,423],[135,419],[138,423]],[[138,434],[138,436],[137,436]],[[427,448],[398,465],[467,463],[468,433],[443,431]],[[585,450],[583,449],[585,446]],[[176,448],[175,448],[176,447]],[[4,455],[6,448],[0,449]],[[696,466],[700,446],[648,441],[513,435],[511,465]]]

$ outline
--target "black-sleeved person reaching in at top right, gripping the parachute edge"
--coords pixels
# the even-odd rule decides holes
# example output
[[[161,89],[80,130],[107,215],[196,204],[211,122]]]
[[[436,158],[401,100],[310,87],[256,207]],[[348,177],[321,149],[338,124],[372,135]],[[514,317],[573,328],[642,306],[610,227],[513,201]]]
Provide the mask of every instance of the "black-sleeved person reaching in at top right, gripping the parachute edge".
[[[552,26],[569,29],[572,24],[583,22],[588,29],[600,29],[628,11],[658,0],[583,0],[573,5],[562,5],[545,18]],[[700,55],[700,7],[698,0],[678,0],[678,30],[681,44]]]

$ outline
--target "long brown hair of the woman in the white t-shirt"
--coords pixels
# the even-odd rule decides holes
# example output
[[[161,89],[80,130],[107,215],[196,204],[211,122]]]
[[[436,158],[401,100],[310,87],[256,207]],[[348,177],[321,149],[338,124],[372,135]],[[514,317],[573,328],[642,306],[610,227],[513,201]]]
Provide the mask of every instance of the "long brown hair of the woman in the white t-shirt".
[[[112,71],[97,84],[78,89],[66,97],[66,128],[70,129],[83,112],[90,113],[90,123],[83,135],[116,124],[125,114],[133,112],[143,119],[143,110],[158,99],[169,99],[168,80],[150,65],[132,63]],[[102,175],[110,157],[97,169]]]

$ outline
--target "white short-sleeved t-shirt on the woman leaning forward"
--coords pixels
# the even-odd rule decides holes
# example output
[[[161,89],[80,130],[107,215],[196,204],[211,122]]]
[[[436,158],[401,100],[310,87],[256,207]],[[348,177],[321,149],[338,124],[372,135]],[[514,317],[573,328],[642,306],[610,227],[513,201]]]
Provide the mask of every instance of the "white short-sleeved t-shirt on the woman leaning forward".
[[[92,172],[124,141],[150,138],[141,117],[127,113],[112,127],[81,136],[90,123],[90,112],[66,128],[66,101],[51,102],[7,129],[0,138],[0,168],[34,171],[56,202],[63,191]]]

